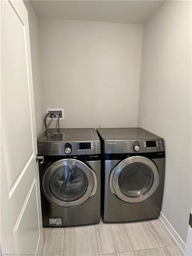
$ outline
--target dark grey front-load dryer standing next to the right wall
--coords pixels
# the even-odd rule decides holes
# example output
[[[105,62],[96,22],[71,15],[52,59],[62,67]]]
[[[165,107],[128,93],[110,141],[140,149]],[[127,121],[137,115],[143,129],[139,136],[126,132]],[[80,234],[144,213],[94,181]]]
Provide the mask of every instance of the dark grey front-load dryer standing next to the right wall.
[[[163,139],[141,128],[101,128],[97,132],[103,151],[103,220],[158,218],[165,168]]]

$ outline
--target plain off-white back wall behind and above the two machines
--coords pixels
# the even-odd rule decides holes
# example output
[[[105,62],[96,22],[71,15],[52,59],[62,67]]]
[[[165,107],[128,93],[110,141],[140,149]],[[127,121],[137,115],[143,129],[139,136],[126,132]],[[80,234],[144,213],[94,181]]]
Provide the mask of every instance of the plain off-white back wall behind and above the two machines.
[[[64,108],[62,127],[136,126],[142,31],[142,25],[40,19],[44,110]]]

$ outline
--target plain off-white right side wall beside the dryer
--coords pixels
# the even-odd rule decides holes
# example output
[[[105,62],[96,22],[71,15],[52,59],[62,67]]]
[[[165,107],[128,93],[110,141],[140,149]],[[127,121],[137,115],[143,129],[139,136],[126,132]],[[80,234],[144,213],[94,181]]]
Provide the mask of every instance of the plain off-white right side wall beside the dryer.
[[[191,3],[167,1],[144,25],[138,126],[166,147],[162,212],[186,242],[191,207]]]

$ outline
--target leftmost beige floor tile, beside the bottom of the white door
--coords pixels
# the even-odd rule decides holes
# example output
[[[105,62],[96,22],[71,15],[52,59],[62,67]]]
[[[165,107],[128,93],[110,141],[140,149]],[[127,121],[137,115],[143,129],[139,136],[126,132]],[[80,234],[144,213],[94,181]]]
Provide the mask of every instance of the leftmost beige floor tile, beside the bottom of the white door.
[[[60,256],[65,228],[44,228],[42,256]]]

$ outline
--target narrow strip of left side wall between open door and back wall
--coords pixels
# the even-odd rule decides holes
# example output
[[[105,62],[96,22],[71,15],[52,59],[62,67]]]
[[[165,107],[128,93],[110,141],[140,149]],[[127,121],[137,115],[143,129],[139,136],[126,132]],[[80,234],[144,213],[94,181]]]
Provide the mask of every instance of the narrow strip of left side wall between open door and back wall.
[[[39,66],[39,33],[38,19],[30,1],[24,1],[29,16],[30,46],[31,46],[31,62],[33,72],[33,90],[35,101],[35,118],[37,137],[44,131],[43,118],[44,109],[42,105],[43,95],[40,82],[40,66]]]

